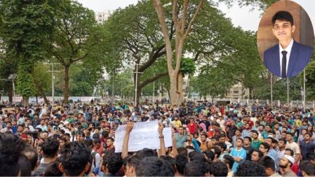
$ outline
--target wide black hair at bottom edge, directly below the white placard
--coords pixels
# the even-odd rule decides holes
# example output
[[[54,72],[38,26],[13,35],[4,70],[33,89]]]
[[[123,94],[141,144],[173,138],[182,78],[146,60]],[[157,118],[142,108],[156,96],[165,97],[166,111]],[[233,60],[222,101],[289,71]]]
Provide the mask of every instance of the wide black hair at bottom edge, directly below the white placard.
[[[174,176],[175,171],[171,165],[158,157],[145,157],[140,161],[136,176]]]

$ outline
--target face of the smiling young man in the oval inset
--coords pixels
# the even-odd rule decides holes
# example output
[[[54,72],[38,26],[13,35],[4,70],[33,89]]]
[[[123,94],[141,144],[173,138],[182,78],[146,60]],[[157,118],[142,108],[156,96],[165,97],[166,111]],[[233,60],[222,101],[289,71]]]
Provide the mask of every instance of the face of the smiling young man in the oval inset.
[[[290,40],[292,34],[295,31],[295,25],[291,25],[290,22],[285,20],[276,20],[272,32],[279,41]]]

